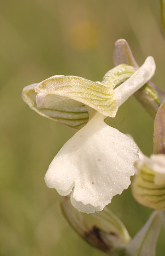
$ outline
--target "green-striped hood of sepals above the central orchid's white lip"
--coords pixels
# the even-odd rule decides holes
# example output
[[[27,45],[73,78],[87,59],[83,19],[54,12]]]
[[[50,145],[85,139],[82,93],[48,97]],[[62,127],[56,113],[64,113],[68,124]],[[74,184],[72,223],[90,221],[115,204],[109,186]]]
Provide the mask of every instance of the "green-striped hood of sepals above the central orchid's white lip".
[[[121,64],[108,71],[101,83],[76,76],[56,75],[26,86],[22,97],[38,114],[81,129],[89,120],[90,109],[115,116],[120,98],[113,88],[134,72],[134,67]]]

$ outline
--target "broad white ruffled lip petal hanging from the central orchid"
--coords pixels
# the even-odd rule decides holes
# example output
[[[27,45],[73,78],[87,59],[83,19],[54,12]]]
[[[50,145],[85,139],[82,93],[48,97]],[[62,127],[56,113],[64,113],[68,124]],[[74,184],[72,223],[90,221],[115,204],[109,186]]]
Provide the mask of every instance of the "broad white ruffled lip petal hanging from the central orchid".
[[[104,123],[97,113],[77,132],[51,162],[45,176],[59,194],[72,191],[71,203],[79,211],[102,210],[115,194],[130,185],[138,147],[125,134]]]

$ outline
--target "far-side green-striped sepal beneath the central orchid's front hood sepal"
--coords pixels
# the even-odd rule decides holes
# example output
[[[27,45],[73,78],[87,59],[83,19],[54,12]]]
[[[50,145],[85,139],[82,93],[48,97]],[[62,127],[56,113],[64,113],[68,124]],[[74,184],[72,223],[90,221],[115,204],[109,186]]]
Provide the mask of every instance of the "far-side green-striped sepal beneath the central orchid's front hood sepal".
[[[86,107],[82,105],[82,103],[81,106],[50,106],[47,108],[44,105],[40,107],[37,106],[37,93],[34,91],[36,86],[37,84],[26,86],[23,89],[22,97],[23,100],[30,106],[30,108],[35,110],[38,114],[76,129],[81,129],[85,124],[87,124],[89,115]],[[43,98],[45,98],[45,94],[40,94],[39,101],[42,101]]]

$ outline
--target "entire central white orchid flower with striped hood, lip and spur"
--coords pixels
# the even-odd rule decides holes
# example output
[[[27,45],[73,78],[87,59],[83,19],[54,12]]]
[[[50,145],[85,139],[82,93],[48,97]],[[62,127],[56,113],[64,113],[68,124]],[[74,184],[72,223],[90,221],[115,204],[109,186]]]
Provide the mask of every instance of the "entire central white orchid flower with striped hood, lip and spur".
[[[126,72],[128,70],[130,72]],[[58,75],[24,88],[25,102],[41,115],[53,119],[53,110],[62,109],[66,124],[70,125],[69,116],[77,113],[77,119],[71,117],[77,123],[70,126],[81,129],[59,150],[49,165],[45,182],[60,195],[71,193],[71,203],[78,211],[101,211],[114,195],[121,194],[130,185],[138,147],[125,134],[108,126],[104,119],[115,117],[118,107],[154,72],[155,62],[148,57],[138,71],[122,64],[108,71],[101,83]],[[73,111],[70,114],[68,107]],[[45,108],[46,114],[42,112]],[[81,108],[89,113],[82,123],[79,122],[83,119]],[[60,122],[64,123],[62,119]]]

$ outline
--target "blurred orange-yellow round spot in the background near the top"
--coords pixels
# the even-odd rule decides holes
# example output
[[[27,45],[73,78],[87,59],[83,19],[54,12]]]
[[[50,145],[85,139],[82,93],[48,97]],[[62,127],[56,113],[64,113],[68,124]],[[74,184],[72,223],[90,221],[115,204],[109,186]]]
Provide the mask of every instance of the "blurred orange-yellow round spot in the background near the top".
[[[69,30],[69,42],[77,51],[89,51],[99,43],[99,28],[90,21],[79,21]]]

